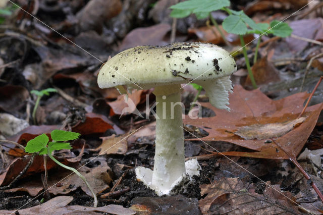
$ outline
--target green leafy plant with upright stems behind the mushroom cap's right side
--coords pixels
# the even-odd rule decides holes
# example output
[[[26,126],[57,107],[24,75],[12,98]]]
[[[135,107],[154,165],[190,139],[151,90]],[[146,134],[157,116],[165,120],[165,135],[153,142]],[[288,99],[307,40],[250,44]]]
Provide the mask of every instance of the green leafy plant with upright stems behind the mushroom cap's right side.
[[[261,36],[263,34],[274,34],[280,37],[290,36],[292,33],[292,29],[289,27],[287,23],[280,21],[272,21],[270,25],[267,23],[255,23],[250,17],[248,17],[243,11],[234,11],[229,9],[230,6],[229,0],[188,0],[185,2],[178,3],[170,7],[173,9],[170,16],[176,18],[184,18],[189,16],[190,14],[195,14],[197,19],[204,19],[209,17],[214,26],[218,29],[224,41],[226,41],[223,32],[220,30],[217,22],[211,16],[212,11],[223,10],[229,14],[229,16],[223,21],[222,26],[223,29],[228,33],[238,34],[240,37],[240,43],[242,46],[243,55],[246,61],[247,70],[250,76],[250,80],[252,86],[257,88],[257,84],[254,80],[250,62],[247,56],[247,49],[245,47],[245,41],[243,39],[243,35],[256,33],[260,34],[253,62],[257,61],[259,44],[261,41]]]

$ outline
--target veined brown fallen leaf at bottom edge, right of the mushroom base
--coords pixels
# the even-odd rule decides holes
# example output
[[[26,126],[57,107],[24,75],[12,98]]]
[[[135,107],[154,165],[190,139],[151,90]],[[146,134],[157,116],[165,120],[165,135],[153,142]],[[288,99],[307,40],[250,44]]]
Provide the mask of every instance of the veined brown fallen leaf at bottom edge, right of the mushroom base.
[[[221,178],[211,184],[200,185],[201,195],[206,196],[199,200],[199,206],[202,213],[210,214],[298,214],[297,206],[286,198],[292,198],[291,193],[282,195],[278,185],[272,187],[266,186],[263,194],[258,194],[253,184],[239,178]]]

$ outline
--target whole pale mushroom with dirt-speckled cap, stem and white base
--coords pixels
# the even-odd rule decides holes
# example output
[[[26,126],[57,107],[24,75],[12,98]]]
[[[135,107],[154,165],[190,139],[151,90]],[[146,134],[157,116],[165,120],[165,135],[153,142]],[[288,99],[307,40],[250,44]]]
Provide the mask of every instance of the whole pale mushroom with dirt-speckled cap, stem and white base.
[[[230,75],[236,71],[232,56],[223,48],[206,43],[173,43],[137,46],[107,61],[98,74],[100,88],[127,85],[154,87],[156,96],[156,149],[153,171],[136,168],[137,179],[158,195],[170,194],[182,181],[199,175],[197,160],[184,157],[181,83],[201,85],[209,101],[227,109],[232,92]]]

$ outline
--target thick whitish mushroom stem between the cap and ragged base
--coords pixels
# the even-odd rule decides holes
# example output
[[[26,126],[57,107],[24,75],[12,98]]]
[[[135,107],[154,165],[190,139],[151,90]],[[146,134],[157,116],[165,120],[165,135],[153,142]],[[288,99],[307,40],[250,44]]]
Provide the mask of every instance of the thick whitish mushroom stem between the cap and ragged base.
[[[171,189],[185,170],[180,84],[156,87],[156,149],[151,187]]]

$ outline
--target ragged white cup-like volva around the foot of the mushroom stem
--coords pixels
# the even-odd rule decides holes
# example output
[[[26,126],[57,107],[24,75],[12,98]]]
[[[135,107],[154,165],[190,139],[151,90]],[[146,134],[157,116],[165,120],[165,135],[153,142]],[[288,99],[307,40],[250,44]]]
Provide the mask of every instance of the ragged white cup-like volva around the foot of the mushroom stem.
[[[198,164],[197,159],[187,160],[187,162],[185,162],[185,169],[186,173],[174,181],[170,189],[163,189],[162,186],[152,185],[153,171],[148,168],[137,167],[135,172],[137,180],[142,181],[144,185],[152,190],[155,190],[158,196],[162,196],[178,194],[178,189],[175,189],[176,186],[180,185],[181,190],[185,190],[186,188],[190,187],[191,184],[189,182],[193,180],[193,176],[200,176],[201,166]]]

